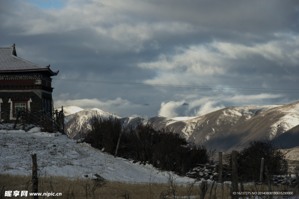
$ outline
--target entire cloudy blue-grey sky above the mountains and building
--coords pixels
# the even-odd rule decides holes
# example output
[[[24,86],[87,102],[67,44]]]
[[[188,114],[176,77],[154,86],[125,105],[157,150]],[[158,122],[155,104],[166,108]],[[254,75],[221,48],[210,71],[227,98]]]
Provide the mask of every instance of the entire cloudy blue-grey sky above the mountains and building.
[[[13,44],[18,57],[59,70],[53,78],[299,89],[296,0],[1,0],[0,46]],[[201,116],[299,101],[299,90],[55,79],[52,87],[56,107],[95,107],[121,117]]]

